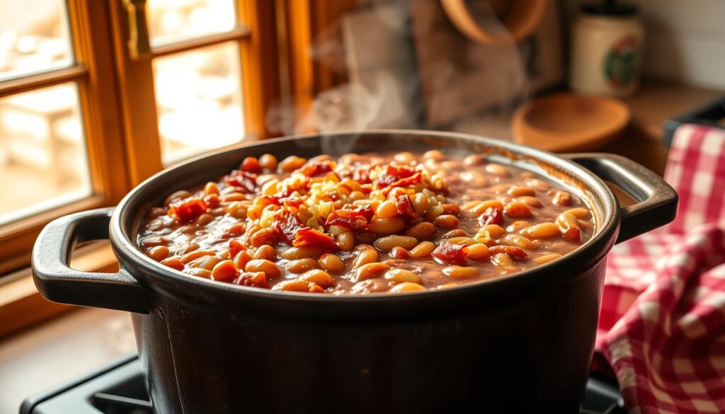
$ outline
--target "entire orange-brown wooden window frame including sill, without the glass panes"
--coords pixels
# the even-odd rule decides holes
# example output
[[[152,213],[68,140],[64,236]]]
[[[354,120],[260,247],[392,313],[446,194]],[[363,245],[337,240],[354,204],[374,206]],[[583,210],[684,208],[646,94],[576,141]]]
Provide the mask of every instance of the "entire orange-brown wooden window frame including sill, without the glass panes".
[[[235,6],[236,28],[158,46],[152,49],[151,57],[236,41],[245,138],[268,138],[273,134],[266,128],[265,111],[280,93],[277,10],[275,2],[267,0],[235,0]],[[78,84],[94,195],[0,228],[0,276],[28,265],[30,249],[50,220],[116,204],[131,187],[162,170],[156,104],[155,99],[149,99],[149,94],[154,96],[152,66],[148,59],[130,59],[128,14],[123,1],[68,0],[67,7],[75,64],[0,83],[0,97],[67,81]],[[81,270],[113,271],[117,266],[109,247],[78,253],[73,263],[77,262]],[[6,265],[11,257],[17,260]],[[0,279],[0,338],[77,309],[43,299],[33,286],[29,268],[18,270],[16,275]]]

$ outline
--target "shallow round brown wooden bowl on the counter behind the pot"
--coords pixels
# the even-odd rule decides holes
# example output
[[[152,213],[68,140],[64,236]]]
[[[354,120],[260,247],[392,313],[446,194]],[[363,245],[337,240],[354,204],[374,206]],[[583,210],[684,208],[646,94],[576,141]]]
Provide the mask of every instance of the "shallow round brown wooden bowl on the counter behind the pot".
[[[618,138],[629,117],[618,99],[552,94],[516,109],[513,138],[546,151],[589,151]]]

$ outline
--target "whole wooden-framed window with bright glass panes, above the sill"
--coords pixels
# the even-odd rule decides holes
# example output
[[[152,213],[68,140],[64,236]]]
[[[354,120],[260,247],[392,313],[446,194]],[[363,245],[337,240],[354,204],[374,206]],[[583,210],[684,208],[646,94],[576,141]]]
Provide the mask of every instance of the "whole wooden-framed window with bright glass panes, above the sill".
[[[0,276],[49,220],[269,136],[275,3],[0,0]]]

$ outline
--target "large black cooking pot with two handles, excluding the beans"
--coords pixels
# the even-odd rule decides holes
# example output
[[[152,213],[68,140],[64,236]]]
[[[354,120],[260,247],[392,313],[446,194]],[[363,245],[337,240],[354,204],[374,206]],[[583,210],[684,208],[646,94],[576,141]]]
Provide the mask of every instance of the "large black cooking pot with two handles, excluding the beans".
[[[513,276],[352,297],[189,277],[136,248],[149,207],[172,191],[215,180],[246,156],[431,148],[488,154],[563,183],[594,211],[595,235],[560,260]],[[602,179],[638,204],[619,207]],[[676,206],[677,194],[661,178],[616,155],[558,157],[422,131],[280,138],[165,170],[115,209],[55,220],[36,241],[33,276],[47,299],[132,312],[159,413],[578,413],[607,253],[670,222]],[[118,273],[68,268],[75,244],[107,238]]]

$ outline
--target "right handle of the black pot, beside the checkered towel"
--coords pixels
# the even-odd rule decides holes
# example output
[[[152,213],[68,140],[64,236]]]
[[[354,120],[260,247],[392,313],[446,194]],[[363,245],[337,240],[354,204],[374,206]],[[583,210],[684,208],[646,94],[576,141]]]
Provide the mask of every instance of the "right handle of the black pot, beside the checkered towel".
[[[678,196],[662,177],[629,158],[616,154],[559,154],[619,186],[637,201],[621,207],[617,243],[670,223],[677,215]]]

